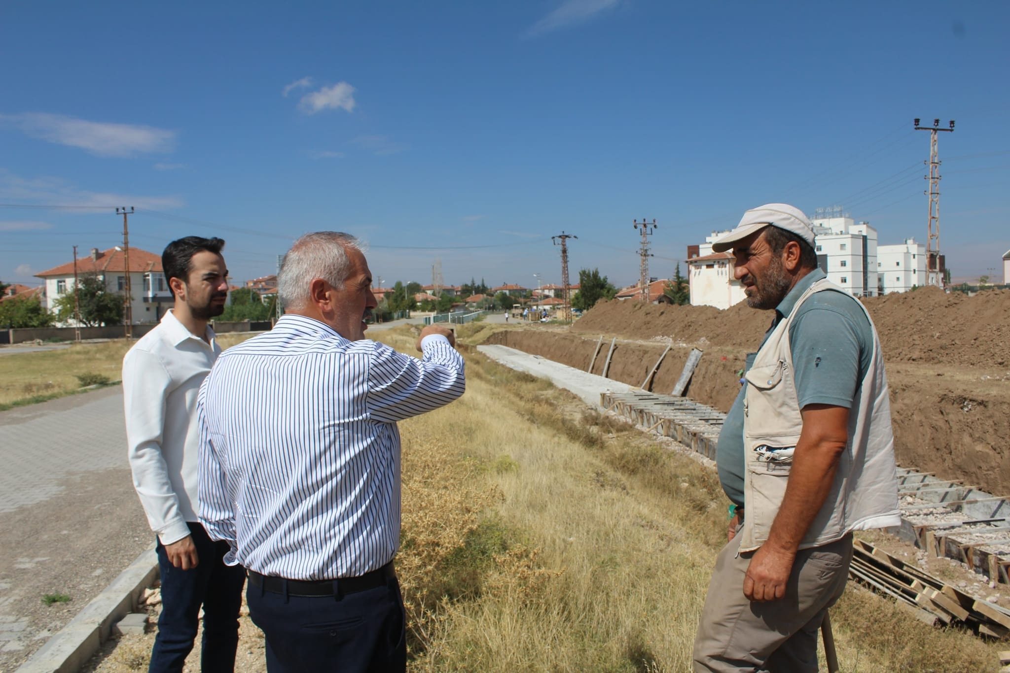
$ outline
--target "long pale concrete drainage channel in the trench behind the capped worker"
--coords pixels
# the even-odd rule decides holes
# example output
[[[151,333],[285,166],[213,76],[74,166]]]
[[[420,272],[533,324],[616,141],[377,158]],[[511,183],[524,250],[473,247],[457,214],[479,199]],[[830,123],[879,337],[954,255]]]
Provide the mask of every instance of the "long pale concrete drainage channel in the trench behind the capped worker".
[[[507,366],[549,378],[592,406],[677,440],[706,458],[715,458],[725,419],[721,412],[687,398],[646,392],[507,346],[479,346],[478,350]],[[598,396],[595,399],[594,392]],[[891,533],[930,556],[953,559],[997,585],[1010,585],[1010,500],[905,467],[898,469],[898,481],[902,526]]]

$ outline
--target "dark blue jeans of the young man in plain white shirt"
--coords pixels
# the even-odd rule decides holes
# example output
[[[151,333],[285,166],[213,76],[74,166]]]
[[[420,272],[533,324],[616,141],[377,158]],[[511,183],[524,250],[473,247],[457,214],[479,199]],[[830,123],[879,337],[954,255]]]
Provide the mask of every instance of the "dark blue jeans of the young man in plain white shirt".
[[[242,604],[245,568],[224,565],[228,543],[214,542],[200,524],[189,524],[198,563],[183,570],[172,565],[158,543],[162,573],[162,615],[150,651],[149,673],[181,673],[196,639],[203,605],[200,670],[233,671],[238,645],[238,608]]]

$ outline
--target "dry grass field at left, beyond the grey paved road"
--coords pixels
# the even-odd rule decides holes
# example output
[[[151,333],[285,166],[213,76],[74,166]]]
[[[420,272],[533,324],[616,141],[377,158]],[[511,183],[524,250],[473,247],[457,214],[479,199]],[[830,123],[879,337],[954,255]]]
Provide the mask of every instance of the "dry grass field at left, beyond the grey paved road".
[[[227,348],[249,338],[249,334],[224,334]],[[135,343],[135,342],[133,342]],[[15,405],[44,402],[77,392],[78,376],[97,374],[119,380],[123,356],[131,343],[125,339],[102,343],[73,344],[61,350],[0,356],[0,410]]]

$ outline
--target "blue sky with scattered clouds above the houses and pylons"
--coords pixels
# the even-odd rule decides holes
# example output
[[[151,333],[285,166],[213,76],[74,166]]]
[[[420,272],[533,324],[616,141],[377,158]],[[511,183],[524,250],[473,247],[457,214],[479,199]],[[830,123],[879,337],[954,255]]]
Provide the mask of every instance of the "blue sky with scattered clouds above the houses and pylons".
[[[782,201],[924,240],[940,135],[955,276],[1010,248],[1010,4],[6,2],[0,279],[218,235],[236,281],[305,231],[373,272],[535,287],[650,274]],[[10,207],[15,206],[15,207]],[[25,208],[23,206],[32,206]],[[54,208],[54,206],[88,206]]]

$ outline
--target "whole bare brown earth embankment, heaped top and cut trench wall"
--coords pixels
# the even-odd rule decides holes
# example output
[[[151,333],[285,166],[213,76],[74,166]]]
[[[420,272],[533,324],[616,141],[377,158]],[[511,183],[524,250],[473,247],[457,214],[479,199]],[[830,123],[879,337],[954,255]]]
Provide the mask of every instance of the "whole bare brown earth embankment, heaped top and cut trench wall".
[[[1010,291],[976,297],[922,289],[865,300],[877,325],[891,383],[898,461],[990,492],[1010,493]],[[642,306],[606,302],[571,331],[524,328],[500,343],[585,369],[604,335],[593,373],[641,385],[667,344],[649,389],[669,392],[692,347],[705,351],[687,395],[728,411],[737,372],[772,320],[745,305]]]

